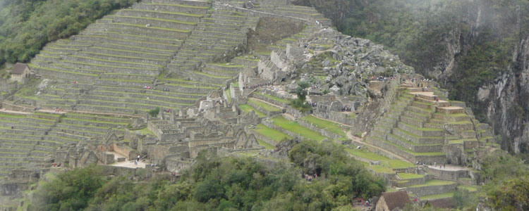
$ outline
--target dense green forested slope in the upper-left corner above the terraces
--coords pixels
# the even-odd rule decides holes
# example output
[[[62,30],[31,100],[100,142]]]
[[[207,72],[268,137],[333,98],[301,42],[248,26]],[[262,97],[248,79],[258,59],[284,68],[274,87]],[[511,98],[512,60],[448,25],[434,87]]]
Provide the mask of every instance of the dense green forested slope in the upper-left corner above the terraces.
[[[77,34],[138,0],[0,0],[0,67],[27,62],[49,41]]]

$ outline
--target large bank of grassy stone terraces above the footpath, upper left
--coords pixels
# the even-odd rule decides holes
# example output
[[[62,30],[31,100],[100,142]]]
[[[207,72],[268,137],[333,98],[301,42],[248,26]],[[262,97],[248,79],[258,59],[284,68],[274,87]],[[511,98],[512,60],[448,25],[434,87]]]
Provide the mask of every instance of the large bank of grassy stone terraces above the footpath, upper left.
[[[202,29],[199,23],[209,18],[209,8],[205,1],[143,1],[97,20],[69,40],[48,44],[31,66],[59,83],[47,90],[51,98],[39,97],[45,102],[39,104],[123,114],[192,106],[219,85],[157,79],[171,59],[190,51],[184,41]]]

